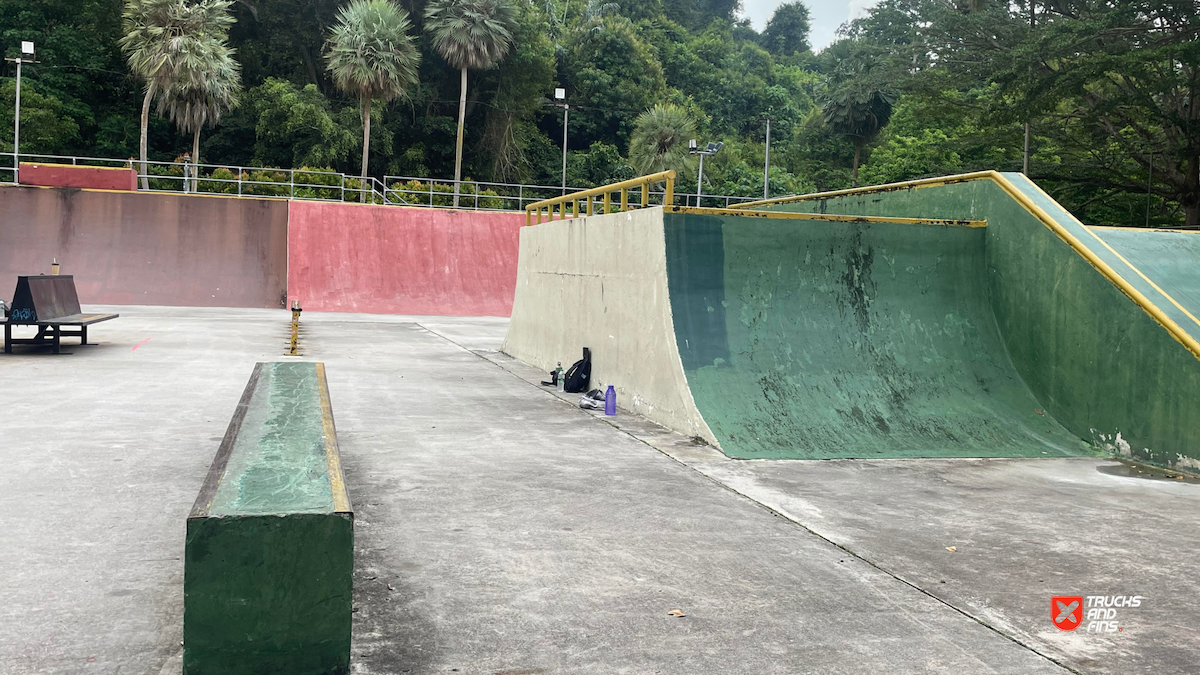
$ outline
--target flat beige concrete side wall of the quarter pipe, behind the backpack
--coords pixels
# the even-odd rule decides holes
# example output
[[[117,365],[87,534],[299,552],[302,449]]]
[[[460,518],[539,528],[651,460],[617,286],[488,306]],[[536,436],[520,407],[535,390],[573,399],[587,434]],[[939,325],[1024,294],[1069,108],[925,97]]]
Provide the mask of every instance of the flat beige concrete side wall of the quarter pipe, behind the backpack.
[[[504,352],[548,372],[583,347],[618,406],[716,444],[676,346],[661,208],[521,228]]]

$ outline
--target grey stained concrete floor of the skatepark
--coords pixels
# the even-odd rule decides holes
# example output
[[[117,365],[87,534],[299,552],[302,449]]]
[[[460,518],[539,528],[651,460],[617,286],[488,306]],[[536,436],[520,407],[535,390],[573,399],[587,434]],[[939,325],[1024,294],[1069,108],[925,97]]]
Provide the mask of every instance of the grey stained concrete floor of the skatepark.
[[[287,312],[115,310],[98,346],[0,354],[0,673],[178,673],[184,520],[253,363],[288,358]],[[727,460],[541,389],[505,324],[304,316],[355,508],[354,673],[1200,663],[1200,485]],[[1064,633],[1055,595],[1145,599]]]

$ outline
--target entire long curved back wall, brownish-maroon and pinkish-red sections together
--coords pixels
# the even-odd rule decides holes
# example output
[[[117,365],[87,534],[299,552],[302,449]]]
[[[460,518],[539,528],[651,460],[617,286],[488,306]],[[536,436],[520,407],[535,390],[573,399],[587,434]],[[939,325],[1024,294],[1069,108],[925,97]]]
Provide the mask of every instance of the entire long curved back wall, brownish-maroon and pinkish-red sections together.
[[[508,316],[520,213],[0,187],[0,298],[58,259],[84,303]]]

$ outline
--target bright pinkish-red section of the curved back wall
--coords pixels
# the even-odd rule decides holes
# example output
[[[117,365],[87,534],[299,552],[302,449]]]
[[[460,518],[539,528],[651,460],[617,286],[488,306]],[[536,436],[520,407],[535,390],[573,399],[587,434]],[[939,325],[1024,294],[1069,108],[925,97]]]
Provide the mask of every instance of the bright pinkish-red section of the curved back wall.
[[[313,311],[509,316],[523,213],[292,202],[288,297]]]

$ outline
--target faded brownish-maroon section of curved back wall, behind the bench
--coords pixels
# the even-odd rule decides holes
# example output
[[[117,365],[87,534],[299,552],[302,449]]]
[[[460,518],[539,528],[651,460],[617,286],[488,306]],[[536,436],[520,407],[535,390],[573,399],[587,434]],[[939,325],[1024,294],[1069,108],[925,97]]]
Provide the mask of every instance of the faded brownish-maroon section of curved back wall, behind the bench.
[[[58,258],[82,303],[280,307],[282,199],[0,187],[0,298]]]

